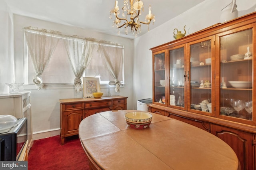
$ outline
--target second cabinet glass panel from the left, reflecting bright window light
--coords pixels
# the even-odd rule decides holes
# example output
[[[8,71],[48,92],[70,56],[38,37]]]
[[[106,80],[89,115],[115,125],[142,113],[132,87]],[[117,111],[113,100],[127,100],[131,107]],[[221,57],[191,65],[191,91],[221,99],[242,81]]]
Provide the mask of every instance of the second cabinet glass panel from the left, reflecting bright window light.
[[[184,107],[184,47],[169,51],[170,105]]]

